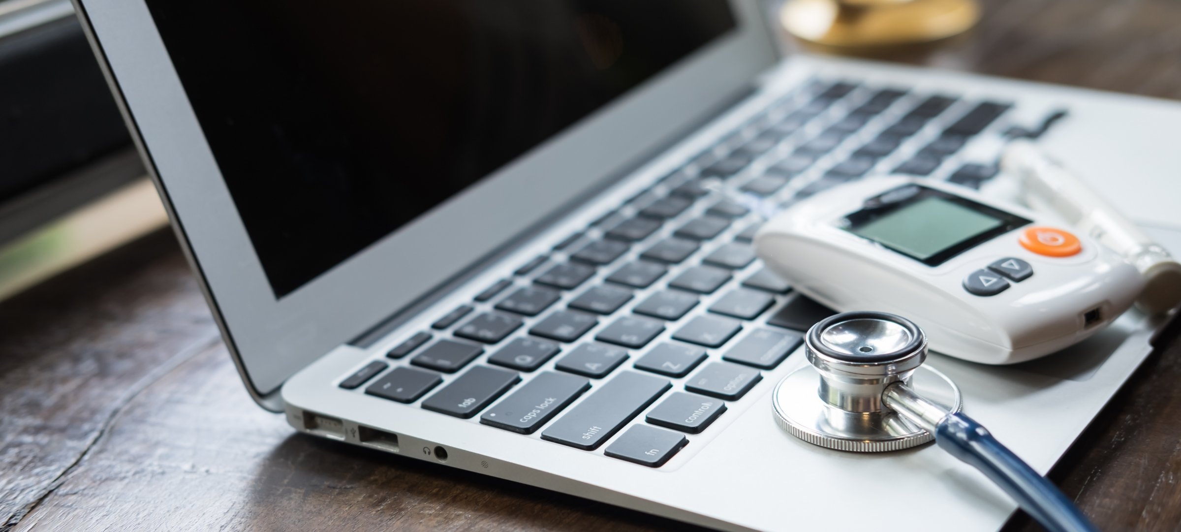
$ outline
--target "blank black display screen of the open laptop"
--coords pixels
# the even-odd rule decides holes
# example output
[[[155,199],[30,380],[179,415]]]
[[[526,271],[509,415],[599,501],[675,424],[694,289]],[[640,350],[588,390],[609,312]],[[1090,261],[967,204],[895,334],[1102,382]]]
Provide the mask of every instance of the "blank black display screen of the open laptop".
[[[726,0],[148,5],[276,298],[735,27]]]

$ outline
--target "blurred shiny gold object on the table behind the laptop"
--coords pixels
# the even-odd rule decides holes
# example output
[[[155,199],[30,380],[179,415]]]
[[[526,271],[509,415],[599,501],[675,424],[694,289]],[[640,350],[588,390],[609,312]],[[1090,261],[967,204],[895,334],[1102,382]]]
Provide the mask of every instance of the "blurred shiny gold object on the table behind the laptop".
[[[976,25],[976,0],[789,0],[783,27],[826,46],[872,47],[929,43]]]

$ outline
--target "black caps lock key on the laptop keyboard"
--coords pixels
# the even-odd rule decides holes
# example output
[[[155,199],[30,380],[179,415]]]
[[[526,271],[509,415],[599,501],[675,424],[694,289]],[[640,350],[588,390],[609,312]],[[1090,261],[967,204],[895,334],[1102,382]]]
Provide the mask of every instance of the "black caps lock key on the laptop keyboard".
[[[496,403],[479,422],[521,434],[533,434],[590,389],[590,382],[568,374],[544,371]]]

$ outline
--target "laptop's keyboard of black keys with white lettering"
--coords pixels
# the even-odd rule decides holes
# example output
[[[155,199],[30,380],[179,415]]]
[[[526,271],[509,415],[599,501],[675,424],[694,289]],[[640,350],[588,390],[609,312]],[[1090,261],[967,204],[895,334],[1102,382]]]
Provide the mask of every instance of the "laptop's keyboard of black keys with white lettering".
[[[339,385],[582,450],[627,427],[603,454],[660,467],[833,313],[759,264],[765,207],[872,173],[979,188],[993,163],[942,167],[1006,109],[813,82]]]

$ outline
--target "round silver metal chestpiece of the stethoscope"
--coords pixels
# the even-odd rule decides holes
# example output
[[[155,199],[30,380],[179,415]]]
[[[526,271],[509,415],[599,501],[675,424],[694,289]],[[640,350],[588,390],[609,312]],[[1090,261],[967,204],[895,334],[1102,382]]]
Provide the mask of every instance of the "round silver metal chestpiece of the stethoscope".
[[[896,382],[959,411],[959,389],[924,366],[927,338],[909,319],[886,312],[844,312],[813,325],[804,337],[813,368],[789,374],[772,394],[779,427],[821,447],[853,452],[899,450],[934,435],[886,408]],[[817,379],[817,374],[820,378]]]

